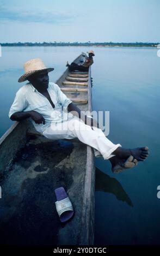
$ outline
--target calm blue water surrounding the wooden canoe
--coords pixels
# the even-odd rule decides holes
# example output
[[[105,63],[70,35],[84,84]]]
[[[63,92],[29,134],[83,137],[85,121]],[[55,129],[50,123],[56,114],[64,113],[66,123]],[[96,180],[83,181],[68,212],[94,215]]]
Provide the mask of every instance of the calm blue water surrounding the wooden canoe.
[[[22,86],[23,63],[40,57],[56,81],[87,47],[5,47],[0,58],[1,135],[12,122],[9,107]],[[150,157],[114,175],[109,161],[96,159],[95,244],[160,243],[159,95],[160,58],[153,48],[100,48],[92,68],[93,109],[110,111],[108,138],[124,147],[147,145]]]

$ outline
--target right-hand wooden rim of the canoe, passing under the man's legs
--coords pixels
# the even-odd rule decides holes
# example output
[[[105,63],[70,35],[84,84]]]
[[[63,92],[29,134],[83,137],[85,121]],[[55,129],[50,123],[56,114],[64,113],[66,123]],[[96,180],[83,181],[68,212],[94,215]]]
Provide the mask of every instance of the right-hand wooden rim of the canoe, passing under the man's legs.
[[[91,68],[88,79],[88,110],[92,111],[91,101]],[[94,205],[95,205],[95,158],[94,151],[87,146],[87,164],[84,181],[82,230],[80,245],[94,245]]]

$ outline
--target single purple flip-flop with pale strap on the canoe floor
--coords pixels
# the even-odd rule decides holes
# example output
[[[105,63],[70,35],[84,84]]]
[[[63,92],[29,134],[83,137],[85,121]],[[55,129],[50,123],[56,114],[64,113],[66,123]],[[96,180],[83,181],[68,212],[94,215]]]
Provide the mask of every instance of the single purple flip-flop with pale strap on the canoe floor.
[[[58,212],[58,215],[60,217],[61,222],[66,222],[70,220],[70,218],[74,214],[72,203],[67,196],[67,193],[64,190],[64,187],[58,187],[56,190],[54,190],[56,194],[57,201],[56,204],[56,210]]]

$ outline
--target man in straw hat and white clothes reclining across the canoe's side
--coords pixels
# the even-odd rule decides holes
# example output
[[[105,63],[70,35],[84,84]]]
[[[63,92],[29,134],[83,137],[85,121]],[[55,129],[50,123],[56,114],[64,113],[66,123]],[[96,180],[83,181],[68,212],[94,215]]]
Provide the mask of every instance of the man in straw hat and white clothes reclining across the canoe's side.
[[[35,129],[48,139],[78,138],[98,150],[104,160],[109,159],[113,172],[134,167],[147,158],[147,147],[126,149],[109,141],[95,126],[95,119],[84,115],[57,84],[49,82],[48,72],[54,69],[46,68],[41,59],[24,63],[24,70],[19,82],[29,83],[16,93],[9,111],[11,120],[30,118]]]

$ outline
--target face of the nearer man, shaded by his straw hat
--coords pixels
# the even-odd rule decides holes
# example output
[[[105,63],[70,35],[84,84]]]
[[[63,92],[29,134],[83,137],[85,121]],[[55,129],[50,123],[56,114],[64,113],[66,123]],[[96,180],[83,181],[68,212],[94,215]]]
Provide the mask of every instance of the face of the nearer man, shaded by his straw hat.
[[[28,77],[28,81],[32,83],[35,89],[46,90],[49,83],[48,72],[44,71],[35,73],[34,75]]]

